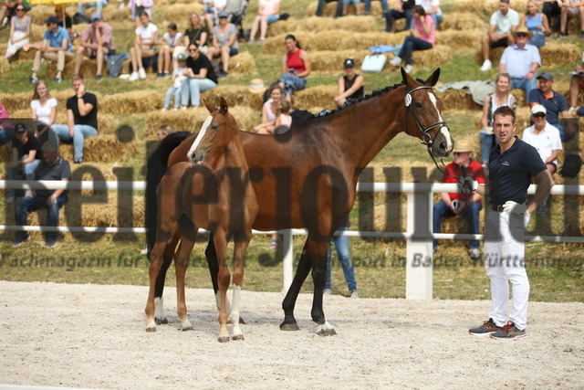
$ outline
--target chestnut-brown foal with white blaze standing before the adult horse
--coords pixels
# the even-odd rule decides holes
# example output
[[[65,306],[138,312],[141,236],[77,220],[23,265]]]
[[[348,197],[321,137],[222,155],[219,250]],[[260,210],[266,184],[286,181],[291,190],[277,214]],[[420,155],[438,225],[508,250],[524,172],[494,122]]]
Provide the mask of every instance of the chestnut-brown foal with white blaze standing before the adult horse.
[[[229,319],[234,324],[234,340],[244,340],[244,334],[239,327],[239,305],[245,251],[252,237],[252,222],[257,215],[258,206],[254,188],[249,181],[239,128],[228,111],[227,102],[221,98],[220,106],[216,109],[207,101],[204,103],[210,115],[203,122],[203,127],[190,148],[190,162],[173,164],[162,177],[158,188],[158,224],[150,253],[146,331],[156,331],[156,279],[162,268],[162,258],[165,253],[168,256],[169,250],[172,256],[179,238],[180,245],[174,256],[177,312],[183,331],[193,329],[186,315],[184,275],[197,230],[203,227],[213,233],[218,261],[215,278],[218,280],[220,297],[219,342],[224,343],[229,341],[226,293],[230,274],[226,266],[227,243],[231,237],[234,238],[234,296]],[[203,161],[208,153],[217,151],[224,156],[224,163],[218,169],[212,169]]]

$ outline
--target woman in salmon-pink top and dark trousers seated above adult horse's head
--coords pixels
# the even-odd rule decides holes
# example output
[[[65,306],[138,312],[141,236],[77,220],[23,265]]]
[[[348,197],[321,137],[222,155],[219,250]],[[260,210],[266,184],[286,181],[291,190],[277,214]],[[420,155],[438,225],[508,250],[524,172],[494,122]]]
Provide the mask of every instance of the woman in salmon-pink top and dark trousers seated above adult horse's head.
[[[429,50],[434,46],[436,39],[436,26],[432,16],[426,15],[422,5],[414,5],[412,8],[413,26],[411,34],[405,37],[400,55],[391,59],[390,64],[394,67],[401,65],[402,58],[405,57],[405,71],[412,73],[412,52],[414,50]]]

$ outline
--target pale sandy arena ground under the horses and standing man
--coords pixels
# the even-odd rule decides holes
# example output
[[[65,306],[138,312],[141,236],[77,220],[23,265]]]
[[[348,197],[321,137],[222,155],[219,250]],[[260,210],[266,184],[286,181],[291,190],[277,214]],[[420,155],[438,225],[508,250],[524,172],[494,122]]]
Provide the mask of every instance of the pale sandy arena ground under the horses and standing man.
[[[146,388],[581,388],[584,303],[532,302],[528,337],[470,336],[485,300],[325,297],[338,334],[320,337],[301,295],[282,332],[283,294],[243,291],[245,341],[218,343],[211,290],[187,290],[194,331],[145,332],[147,288],[0,281],[0,384]]]

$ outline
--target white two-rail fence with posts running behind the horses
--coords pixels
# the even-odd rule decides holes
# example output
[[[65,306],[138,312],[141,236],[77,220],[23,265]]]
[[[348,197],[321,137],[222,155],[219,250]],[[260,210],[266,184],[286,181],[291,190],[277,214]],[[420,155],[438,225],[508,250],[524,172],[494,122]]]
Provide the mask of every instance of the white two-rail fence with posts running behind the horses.
[[[0,189],[68,189],[68,190],[110,190],[144,191],[146,182],[93,182],[93,181],[31,181],[0,180]],[[528,194],[534,194],[535,185],[530,185]],[[407,198],[407,227],[405,232],[338,232],[348,237],[404,238],[406,247],[406,298],[433,298],[433,250],[432,240],[438,239],[483,239],[483,235],[471,234],[433,234],[432,205],[433,193],[458,191],[456,184],[432,183],[359,183],[358,192],[404,193]],[[584,185],[555,185],[552,195],[584,195]],[[578,213],[579,210],[574,212]],[[0,230],[59,231],[59,232],[96,232],[96,233],[138,233],[144,234],[144,227],[17,227],[0,225]],[[254,234],[273,234],[276,231],[257,231]],[[305,229],[277,231],[284,236],[283,289],[287,290],[293,278],[292,243],[295,235],[307,235]],[[531,236],[529,241],[584,243],[584,237]]]

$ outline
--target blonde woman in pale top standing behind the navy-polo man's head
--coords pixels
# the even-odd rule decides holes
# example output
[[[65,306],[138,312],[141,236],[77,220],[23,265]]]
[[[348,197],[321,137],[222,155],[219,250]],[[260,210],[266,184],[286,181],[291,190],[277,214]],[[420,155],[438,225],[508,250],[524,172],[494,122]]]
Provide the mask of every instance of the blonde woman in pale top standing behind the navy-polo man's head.
[[[491,149],[495,145],[493,132],[493,114],[501,106],[509,106],[515,110],[517,99],[510,93],[511,78],[507,73],[499,73],[495,79],[495,92],[489,93],[483,103],[483,118],[481,119],[481,161],[485,168],[489,162]]]

